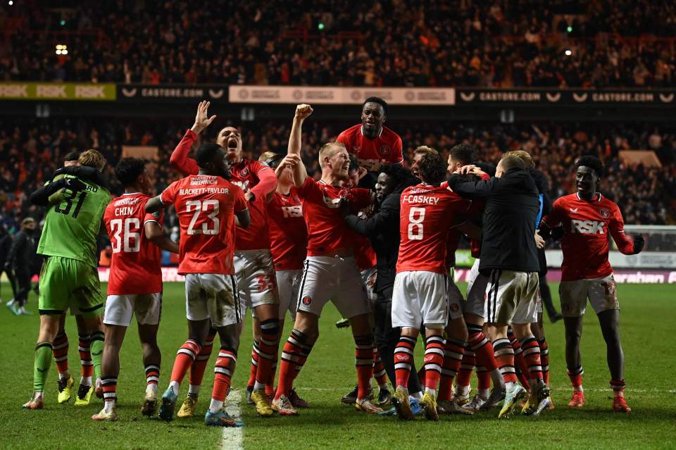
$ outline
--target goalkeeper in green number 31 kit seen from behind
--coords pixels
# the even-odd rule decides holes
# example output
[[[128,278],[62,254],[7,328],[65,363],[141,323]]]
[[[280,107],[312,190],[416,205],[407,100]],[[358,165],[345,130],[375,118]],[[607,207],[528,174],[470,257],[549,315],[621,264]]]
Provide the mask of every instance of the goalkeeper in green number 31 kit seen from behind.
[[[33,204],[47,206],[37,253],[45,257],[40,273],[40,331],[35,346],[33,395],[27,409],[44,407],[44,382],[52,360],[58,321],[70,307],[82,313],[91,335],[94,375],[100,377],[104,332],[104,296],[97,269],[96,237],[111,195],[101,182],[106,159],[99,151],[84,151],[79,167],[57,170],[54,180],[33,192]],[[89,395],[92,388],[90,387]]]

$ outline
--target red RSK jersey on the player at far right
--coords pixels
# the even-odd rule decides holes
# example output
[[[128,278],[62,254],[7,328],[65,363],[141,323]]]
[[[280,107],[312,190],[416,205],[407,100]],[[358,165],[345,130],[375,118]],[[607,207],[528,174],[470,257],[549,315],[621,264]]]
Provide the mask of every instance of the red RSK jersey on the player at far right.
[[[608,262],[611,236],[623,254],[632,254],[634,241],[625,235],[625,223],[614,201],[596,194],[594,201],[580,199],[578,194],[563,196],[544,218],[550,227],[563,225],[561,239],[563,264],[561,280],[607,277],[613,273]]]

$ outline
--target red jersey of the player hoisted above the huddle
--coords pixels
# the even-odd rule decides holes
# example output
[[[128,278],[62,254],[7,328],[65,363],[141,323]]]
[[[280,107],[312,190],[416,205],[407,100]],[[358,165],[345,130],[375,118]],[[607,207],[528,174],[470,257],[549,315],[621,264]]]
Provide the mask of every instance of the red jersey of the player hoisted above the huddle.
[[[361,124],[354,125],[338,135],[338,142],[359,160],[359,165],[371,170],[375,164],[403,163],[401,137],[387,127],[382,127],[380,136],[369,139],[362,134]]]

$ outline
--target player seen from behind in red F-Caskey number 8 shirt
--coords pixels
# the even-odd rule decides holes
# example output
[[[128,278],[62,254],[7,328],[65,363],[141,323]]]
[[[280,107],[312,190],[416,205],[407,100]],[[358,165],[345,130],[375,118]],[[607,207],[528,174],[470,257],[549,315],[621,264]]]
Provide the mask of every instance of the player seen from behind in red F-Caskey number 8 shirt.
[[[444,328],[453,319],[462,319],[462,296],[448,280],[446,249],[449,230],[456,216],[465,213],[471,202],[440,184],[446,176],[446,163],[437,152],[425,154],[418,164],[420,185],[401,194],[399,258],[396,263],[392,296],[392,326],[401,327],[394,351],[396,391],[393,402],[400,418],[411,420],[408,377],[420,324],[425,325],[425,394],[420,405],[430,420],[439,420],[437,385],[444,364]],[[453,289],[456,292],[457,288]],[[462,324],[464,329],[464,323]],[[465,330],[465,338],[466,338]],[[459,342],[458,361],[464,342]]]

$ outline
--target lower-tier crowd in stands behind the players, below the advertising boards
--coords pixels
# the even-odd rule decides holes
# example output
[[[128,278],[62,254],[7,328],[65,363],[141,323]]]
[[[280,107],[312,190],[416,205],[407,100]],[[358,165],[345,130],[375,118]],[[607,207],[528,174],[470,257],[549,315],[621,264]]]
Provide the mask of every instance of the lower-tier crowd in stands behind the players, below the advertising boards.
[[[189,125],[189,124],[188,124]],[[213,139],[223,122],[205,132],[204,139]],[[239,124],[238,124],[239,125]],[[308,121],[303,130],[303,160],[315,177],[319,177],[317,152],[352,123],[320,123]],[[629,224],[675,223],[669,215],[674,210],[672,193],[676,192],[676,128],[637,126],[630,124],[579,125],[460,125],[458,123],[393,123],[403,139],[405,158],[411,161],[413,149],[419,145],[447,151],[459,142],[475,145],[483,161],[496,162],[508,149],[525,149],[534,155],[539,168],[551,181],[553,198],[575,192],[573,167],[575,158],[583,154],[599,156],[607,168],[601,192],[617,201]],[[32,215],[42,220],[44,211],[27,201],[30,192],[49,180],[51,173],[63,165],[69,151],[89,147],[100,149],[108,160],[105,174],[111,192],[120,193],[113,167],[120,158],[123,145],[158,147],[153,164],[156,189],[161,192],[180,175],[168,163],[185,127],[182,122],[158,120],[125,122],[105,119],[23,119],[8,121],[0,129],[0,216],[4,225],[13,228],[21,218]],[[244,149],[249,158],[263,151],[285,152],[289,124],[253,123],[242,126]],[[622,149],[653,149],[665,163],[663,168],[627,165],[618,158]],[[168,227],[176,225],[169,215]]]

